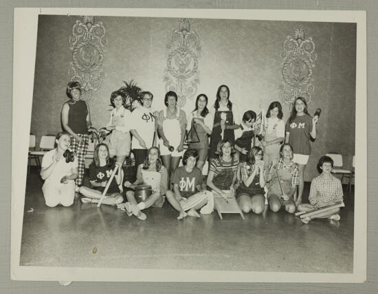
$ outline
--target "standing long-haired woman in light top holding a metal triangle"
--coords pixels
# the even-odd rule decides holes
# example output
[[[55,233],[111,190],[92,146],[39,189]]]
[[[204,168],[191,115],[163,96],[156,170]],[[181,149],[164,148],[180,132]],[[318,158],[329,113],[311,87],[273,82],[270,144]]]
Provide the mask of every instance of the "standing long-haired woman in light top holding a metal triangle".
[[[195,149],[198,152],[197,168],[202,171],[203,165],[208,158],[209,152],[209,137],[212,132],[212,124],[214,118],[208,110],[208,96],[199,94],[196,100],[196,108],[188,115],[188,124],[186,131],[190,132],[195,129],[199,142],[189,143],[189,149]],[[188,133],[188,138],[191,138],[192,133]],[[197,138],[194,138],[197,139]]]

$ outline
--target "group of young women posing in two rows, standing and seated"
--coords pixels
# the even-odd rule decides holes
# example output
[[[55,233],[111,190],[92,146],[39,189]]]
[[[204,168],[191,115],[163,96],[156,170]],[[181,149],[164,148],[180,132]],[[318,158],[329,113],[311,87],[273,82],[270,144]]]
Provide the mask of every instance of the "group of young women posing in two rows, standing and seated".
[[[322,157],[318,163],[320,176],[311,183],[310,203],[302,204],[303,173],[318,122],[318,116],[309,115],[306,100],[296,98],[286,126],[280,102],[272,102],[264,123],[257,124],[256,113],[250,110],[240,120],[226,85],[219,87],[210,110],[208,97],[198,95],[188,118],[177,106],[174,91],[166,93],[166,109],[159,112],[151,107],[153,94],[148,91],[142,92],[142,105],[133,112],[124,108],[126,98],[121,91],[111,93],[109,141],[96,146],[89,166],[91,187],[85,187],[82,177],[91,117],[80,94],[80,84],[69,82],[70,99],[61,113],[65,132],[57,135],[56,149],[43,157],[41,177],[45,179],[43,194],[48,206],[71,205],[75,191],[82,194],[83,203],[98,202],[116,165],[120,168],[102,203],[124,203],[127,214],[141,220],[146,219],[142,210],[162,207],[165,199],[179,212],[177,218],[199,217],[197,210],[211,214],[214,195],[226,199],[236,196],[243,212],[256,214],[265,209],[265,198],[271,211],[284,206],[289,213],[342,201],[341,182],[331,175],[333,161]],[[185,143],[188,150],[184,152]],[[133,183],[122,181],[122,165],[131,149],[137,165]],[[183,166],[179,167],[181,158]],[[202,169],[207,160],[209,170],[204,183]],[[150,185],[152,192],[138,203],[134,190],[140,184]],[[338,220],[337,212],[322,217]]]

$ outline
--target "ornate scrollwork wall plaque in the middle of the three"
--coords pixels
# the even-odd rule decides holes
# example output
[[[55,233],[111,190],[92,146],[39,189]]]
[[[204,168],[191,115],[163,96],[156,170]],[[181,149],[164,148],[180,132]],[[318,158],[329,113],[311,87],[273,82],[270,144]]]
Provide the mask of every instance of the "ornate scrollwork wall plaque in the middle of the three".
[[[172,29],[166,43],[167,60],[164,71],[166,91],[175,91],[178,106],[193,99],[199,84],[198,58],[201,51],[199,36],[190,31],[188,19],[181,19],[179,29]]]

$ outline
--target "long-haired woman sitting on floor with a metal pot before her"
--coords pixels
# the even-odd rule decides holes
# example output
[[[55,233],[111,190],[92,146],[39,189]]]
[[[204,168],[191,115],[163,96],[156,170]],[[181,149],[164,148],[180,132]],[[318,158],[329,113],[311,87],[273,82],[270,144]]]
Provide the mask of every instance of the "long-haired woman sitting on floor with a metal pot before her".
[[[146,220],[147,216],[141,210],[148,207],[163,207],[164,194],[167,190],[168,172],[162,165],[160,159],[160,151],[157,147],[151,147],[148,150],[147,157],[144,163],[137,167],[137,179],[133,184],[129,181],[124,183],[126,190],[127,201],[125,204],[126,211],[132,212],[140,220]],[[146,200],[137,203],[135,200],[135,192],[131,185],[151,185],[152,194]]]

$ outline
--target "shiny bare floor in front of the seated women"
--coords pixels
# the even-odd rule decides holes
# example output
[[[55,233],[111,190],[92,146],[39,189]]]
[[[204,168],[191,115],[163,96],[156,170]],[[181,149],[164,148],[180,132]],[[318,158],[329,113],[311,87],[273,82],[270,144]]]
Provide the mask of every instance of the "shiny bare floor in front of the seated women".
[[[21,261],[24,266],[353,272],[354,195],[345,192],[340,221],[313,220],[265,207],[262,215],[216,212],[177,220],[169,203],[147,220],[116,207],[45,205],[38,172],[27,177]],[[304,191],[307,201],[309,186]],[[96,249],[93,251],[93,248]],[[93,253],[96,252],[96,253]]]

